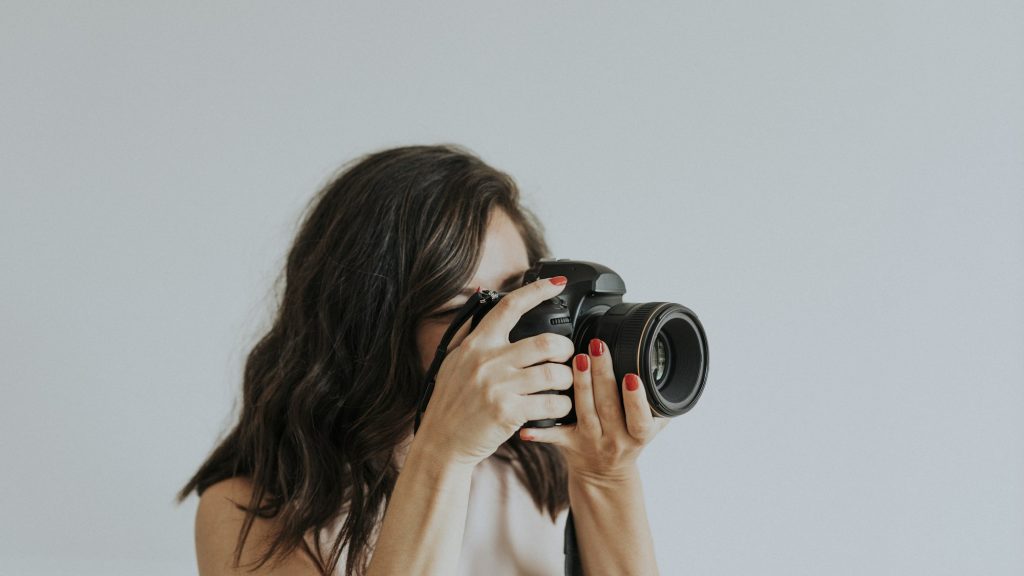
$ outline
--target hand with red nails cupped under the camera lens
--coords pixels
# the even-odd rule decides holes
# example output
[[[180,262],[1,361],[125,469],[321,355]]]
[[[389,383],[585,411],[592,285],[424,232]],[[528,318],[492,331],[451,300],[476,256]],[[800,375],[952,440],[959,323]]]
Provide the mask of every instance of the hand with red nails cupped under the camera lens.
[[[615,382],[611,355],[603,341],[591,340],[589,352],[572,359],[577,422],[521,428],[519,438],[558,446],[570,474],[614,480],[632,472],[640,451],[671,419],[653,416],[637,374],[627,374],[621,385]]]

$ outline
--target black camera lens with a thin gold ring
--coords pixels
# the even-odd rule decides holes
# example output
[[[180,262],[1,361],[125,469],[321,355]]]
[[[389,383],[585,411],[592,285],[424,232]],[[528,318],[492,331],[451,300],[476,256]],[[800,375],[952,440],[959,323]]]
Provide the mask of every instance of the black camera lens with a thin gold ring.
[[[700,397],[708,377],[708,340],[692,311],[675,302],[623,302],[595,311],[580,343],[601,338],[617,381],[633,372],[658,416],[678,416]]]

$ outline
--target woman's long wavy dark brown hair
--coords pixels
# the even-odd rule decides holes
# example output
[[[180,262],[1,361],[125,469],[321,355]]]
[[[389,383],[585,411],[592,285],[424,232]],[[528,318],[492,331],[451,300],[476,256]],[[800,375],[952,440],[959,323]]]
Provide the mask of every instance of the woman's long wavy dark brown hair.
[[[347,548],[345,574],[366,573],[423,385],[417,327],[472,278],[496,208],[531,262],[550,256],[512,177],[457,145],[356,158],[310,200],[275,282],[271,327],[246,360],[239,420],[177,494],[181,502],[225,479],[250,482],[236,567],[258,516],[276,519],[276,532],[253,569],[301,547],[333,574]],[[512,435],[496,456],[554,522],[568,505],[557,448]],[[325,552],[322,531],[342,513]]]

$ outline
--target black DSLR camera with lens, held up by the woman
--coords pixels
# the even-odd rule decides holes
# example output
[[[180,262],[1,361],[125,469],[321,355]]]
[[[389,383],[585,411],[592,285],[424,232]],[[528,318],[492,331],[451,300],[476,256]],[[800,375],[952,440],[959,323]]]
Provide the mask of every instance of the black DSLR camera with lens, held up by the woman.
[[[624,302],[622,277],[607,266],[582,260],[542,258],[523,274],[522,284],[553,276],[568,279],[565,288],[522,315],[509,341],[554,332],[571,339],[579,354],[587,352],[591,338],[600,338],[608,344],[615,381],[622,382],[630,372],[639,375],[655,416],[679,416],[696,404],[708,378],[708,338],[692,311],[674,302]],[[504,295],[492,291],[480,299],[472,328]],[[571,397],[572,388],[541,394]],[[562,418],[531,420],[525,425],[573,422],[575,402]]]

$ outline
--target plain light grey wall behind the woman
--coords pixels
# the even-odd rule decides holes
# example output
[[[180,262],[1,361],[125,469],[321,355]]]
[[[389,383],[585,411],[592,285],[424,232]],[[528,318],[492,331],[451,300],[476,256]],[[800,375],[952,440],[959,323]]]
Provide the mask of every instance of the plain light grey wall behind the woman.
[[[695,310],[663,574],[1024,572],[1021,2],[5,2],[0,572],[195,570],[299,211],[456,141]],[[368,222],[372,224],[372,222]]]

